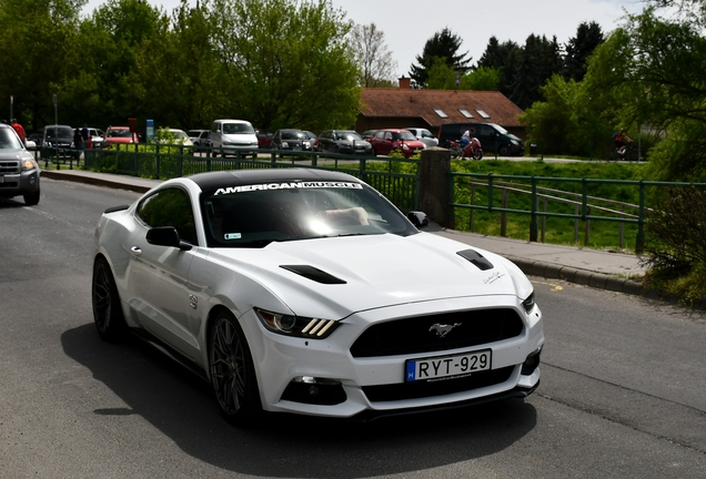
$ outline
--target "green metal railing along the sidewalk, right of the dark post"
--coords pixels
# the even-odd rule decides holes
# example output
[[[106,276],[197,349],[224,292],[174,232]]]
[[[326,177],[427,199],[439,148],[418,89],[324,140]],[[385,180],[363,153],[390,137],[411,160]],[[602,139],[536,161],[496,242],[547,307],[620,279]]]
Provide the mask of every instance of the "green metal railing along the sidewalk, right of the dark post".
[[[452,182],[451,206],[454,208],[454,212],[468,211],[466,224],[470,231],[474,231],[474,211],[500,213],[501,236],[506,235],[506,215],[508,213],[528,215],[530,241],[536,242],[539,240],[541,218],[541,241],[544,242],[547,218],[568,218],[574,221],[575,243],[578,242],[578,224],[579,222],[585,222],[584,244],[588,245],[591,222],[613,222],[618,224],[621,247],[624,247],[625,226],[635,226],[636,253],[642,253],[645,246],[645,217],[646,213],[653,210],[653,207],[648,205],[648,200],[657,196],[654,192],[650,192],[652,190],[656,191],[656,188],[660,187],[675,186],[706,187],[706,183],[518,176],[495,175],[493,173],[452,172],[450,179]],[[539,186],[541,183],[577,184],[581,187],[581,193],[543,187]],[[619,202],[588,194],[592,186],[618,184],[637,188],[635,193],[637,202]],[[521,196],[521,200],[515,201],[514,205],[511,205],[511,194]],[[461,202],[460,198],[467,198],[467,202]],[[543,203],[542,207],[539,206],[539,201]],[[478,202],[481,202],[481,204]],[[573,212],[571,212],[572,207],[574,210]],[[465,220],[465,217],[458,218],[458,215],[456,215],[456,223],[463,223],[458,220]]]

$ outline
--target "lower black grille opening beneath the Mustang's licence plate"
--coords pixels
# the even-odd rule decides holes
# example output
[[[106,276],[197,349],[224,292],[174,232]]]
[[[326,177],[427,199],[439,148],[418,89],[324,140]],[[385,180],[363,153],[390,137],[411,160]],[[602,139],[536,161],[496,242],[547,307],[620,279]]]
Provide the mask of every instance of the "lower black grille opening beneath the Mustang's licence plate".
[[[445,396],[505,383],[515,366],[475,373],[473,376],[440,381],[399,383],[382,386],[363,386],[363,393],[371,402],[418,399]]]

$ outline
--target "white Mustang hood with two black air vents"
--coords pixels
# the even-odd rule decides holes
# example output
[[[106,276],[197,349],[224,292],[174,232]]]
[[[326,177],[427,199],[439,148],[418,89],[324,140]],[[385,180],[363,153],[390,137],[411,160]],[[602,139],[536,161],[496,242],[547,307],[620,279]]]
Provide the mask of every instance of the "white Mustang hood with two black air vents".
[[[464,251],[478,253],[482,267],[458,255]],[[343,318],[400,304],[478,295],[524,298],[532,292],[528,279],[507,259],[428,233],[275,242],[261,249],[219,248],[210,255],[255,279],[302,316]],[[467,256],[478,259],[473,253]]]

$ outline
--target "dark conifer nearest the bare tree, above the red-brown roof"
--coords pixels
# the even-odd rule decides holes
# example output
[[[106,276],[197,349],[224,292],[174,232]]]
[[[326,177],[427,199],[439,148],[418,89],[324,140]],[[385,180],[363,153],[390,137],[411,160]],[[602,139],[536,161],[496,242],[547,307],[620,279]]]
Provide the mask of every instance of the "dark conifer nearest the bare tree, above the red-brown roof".
[[[434,33],[424,44],[422,55],[416,57],[418,64],[411,65],[410,78],[420,86],[426,86],[428,69],[434,65],[435,59],[443,59],[446,65],[460,74],[465,73],[472,59],[465,58],[468,52],[457,53],[462,41],[461,37],[452,33],[447,28]]]

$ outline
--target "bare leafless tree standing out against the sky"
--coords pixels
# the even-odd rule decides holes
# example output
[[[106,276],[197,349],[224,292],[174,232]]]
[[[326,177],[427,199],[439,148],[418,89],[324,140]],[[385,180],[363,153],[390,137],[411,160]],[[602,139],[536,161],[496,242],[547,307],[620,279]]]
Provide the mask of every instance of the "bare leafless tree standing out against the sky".
[[[356,24],[349,33],[349,45],[360,69],[359,85],[387,86],[395,80],[397,62],[385,44],[385,33],[375,23]]]

